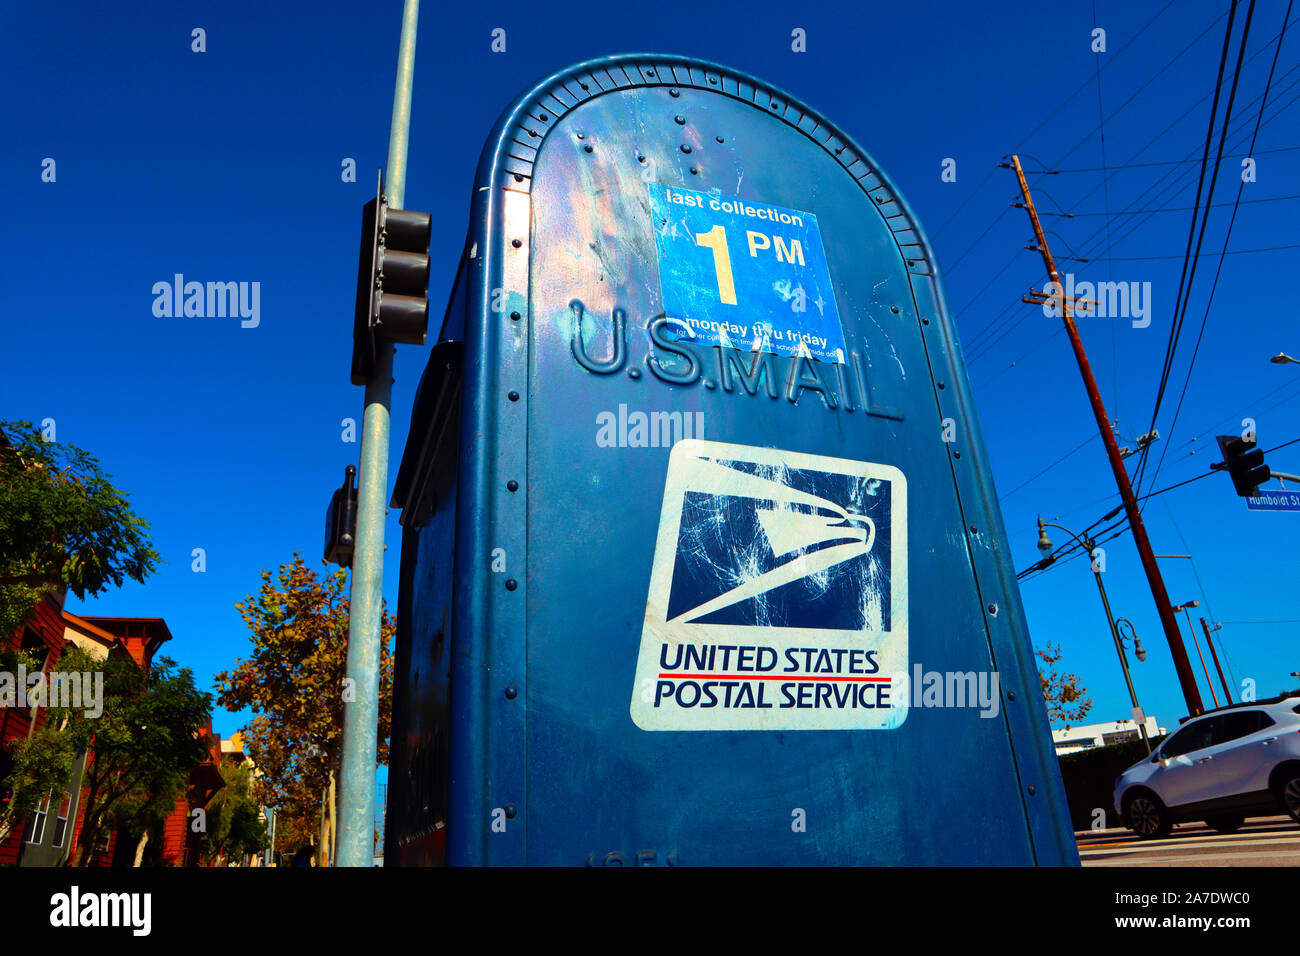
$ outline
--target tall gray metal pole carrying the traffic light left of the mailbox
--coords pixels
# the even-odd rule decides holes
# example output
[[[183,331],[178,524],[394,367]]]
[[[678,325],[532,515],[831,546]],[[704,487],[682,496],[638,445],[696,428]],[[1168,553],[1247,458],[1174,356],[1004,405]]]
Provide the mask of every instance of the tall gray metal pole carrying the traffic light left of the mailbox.
[[[415,75],[415,31],[420,0],[406,0],[398,78],[389,127],[385,195],[389,208],[406,202],[407,140]],[[343,773],[339,797],[337,866],[370,866],[374,858],[374,769],[380,723],[380,611],[384,601],[384,519],[387,514],[389,423],[393,402],[393,345],[380,341],[365,384],[361,468],[356,493],[356,546],[352,553],[347,676],[343,704]]]

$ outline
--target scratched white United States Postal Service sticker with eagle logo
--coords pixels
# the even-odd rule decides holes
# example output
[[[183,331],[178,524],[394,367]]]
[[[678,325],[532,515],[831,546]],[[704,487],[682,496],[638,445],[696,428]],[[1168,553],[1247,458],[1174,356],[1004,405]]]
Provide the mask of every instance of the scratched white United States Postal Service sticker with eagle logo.
[[[673,445],[632,721],[647,731],[902,724],[906,515],[906,480],[888,464]]]

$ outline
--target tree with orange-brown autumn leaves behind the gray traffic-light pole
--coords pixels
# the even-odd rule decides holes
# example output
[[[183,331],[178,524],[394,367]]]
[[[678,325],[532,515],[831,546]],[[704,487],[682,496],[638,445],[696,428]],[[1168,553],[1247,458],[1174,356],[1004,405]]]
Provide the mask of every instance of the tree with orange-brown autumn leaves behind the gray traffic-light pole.
[[[264,570],[261,581],[256,596],[235,605],[251,633],[252,653],[216,676],[217,701],[228,710],[250,709],[256,715],[242,728],[259,770],[254,795],[263,806],[277,808],[278,835],[308,834],[318,826],[324,865],[333,843],[343,750],[347,572],[317,576],[295,553],[274,580]],[[384,611],[376,753],[381,766],[389,762],[395,632],[396,622]]]

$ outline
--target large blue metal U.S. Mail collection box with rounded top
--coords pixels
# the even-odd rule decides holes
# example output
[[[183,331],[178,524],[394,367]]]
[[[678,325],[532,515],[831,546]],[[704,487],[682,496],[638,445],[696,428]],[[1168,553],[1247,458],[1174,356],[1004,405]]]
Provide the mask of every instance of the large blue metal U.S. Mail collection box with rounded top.
[[[684,334],[689,316],[666,315],[656,229],[668,217],[653,215],[654,187],[815,216],[832,287],[816,290],[818,321],[833,295],[845,362]],[[770,251],[777,224],[755,226],[768,246],[729,235],[729,255]],[[744,324],[745,302],[733,308]],[[441,338],[394,492],[404,533],[389,865],[1078,862],[933,254],[889,179],[826,117],[682,57],[608,57],[546,78],[484,151]],[[737,489],[776,481],[788,501],[719,490],[719,463]],[[864,503],[881,476],[894,503]],[[706,511],[710,548],[749,568],[742,583],[767,574],[751,564],[783,540],[814,561],[796,546],[810,524],[840,533],[858,564],[810,568],[780,592],[789,600],[746,598],[723,615],[731,623],[673,631],[689,615],[670,613],[653,579],[679,574],[673,522],[685,527],[701,488],[728,507],[750,496],[733,511],[762,537]],[[892,536],[887,514],[901,522]],[[811,730],[814,710],[720,706],[710,713],[763,728],[708,730],[711,717],[699,726],[702,711],[663,702],[664,714],[677,708],[663,721],[696,728],[633,721],[662,676],[637,684],[644,643],[651,667],[660,645],[677,646],[668,632],[793,646],[793,618],[774,609],[797,606],[786,617],[809,626],[816,588],[859,587],[846,567],[870,587],[901,587],[892,618],[864,600],[858,631],[797,641],[840,646],[848,662],[861,639],[904,661],[892,679],[862,666],[871,654],[832,669],[853,687],[892,680],[892,718]],[[826,627],[844,617],[833,601]],[[838,684],[822,691],[812,659],[794,669],[802,683],[774,671],[767,700],[786,688],[798,700],[807,684],[809,701],[831,706]],[[931,672],[970,674],[992,697],[933,706],[922,692]],[[861,715],[832,723],[841,717]]]

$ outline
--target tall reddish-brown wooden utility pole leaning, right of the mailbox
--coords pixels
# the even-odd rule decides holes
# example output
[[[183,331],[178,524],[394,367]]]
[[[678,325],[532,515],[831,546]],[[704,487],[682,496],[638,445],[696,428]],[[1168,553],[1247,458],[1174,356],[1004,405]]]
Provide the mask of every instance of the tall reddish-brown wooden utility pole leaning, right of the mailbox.
[[[1001,164],[1006,166],[1008,164]],[[1115,475],[1115,484],[1119,488],[1119,497],[1123,498],[1124,512],[1128,515],[1128,527],[1134,533],[1134,544],[1141,558],[1143,568],[1147,572],[1147,581],[1150,584],[1150,594],[1156,600],[1156,610],[1160,611],[1160,623],[1165,628],[1165,637],[1169,641],[1169,650],[1174,658],[1174,669],[1178,671],[1178,683],[1183,688],[1183,698],[1187,701],[1188,714],[1196,717],[1204,713],[1201,693],[1196,687],[1196,676],[1192,674],[1191,661],[1187,659],[1187,648],[1183,646],[1183,635],[1174,615],[1173,605],[1169,601],[1169,592],[1165,591],[1165,579],[1160,575],[1160,566],[1156,563],[1156,554],[1152,550],[1150,540],[1147,537],[1147,525],[1143,524],[1141,511],[1138,510],[1138,498],[1134,494],[1132,483],[1128,479],[1128,470],[1119,457],[1119,442],[1115,440],[1114,429],[1110,428],[1110,419],[1106,418],[1106,407],[1101,401],[1101,392],[1097,389],[1097,380],[1092,375],[1092,365],[1088,355],[1083,350],[1083,339],[1079,329],[1074,324],[1071,303],[1065,297],[1061,285],[1061,273],[1057,272],[1052,250],[1048,248],[1046,235],[1039,222],[1037,209],[1034,208],[1034,196],[1030,195],[1030,185],[1024,181],[1024,170],[1020,169],[1020,157],[1011,156],[1010,168],[1015,170],[1015,177],[1020,183],[1020,195],[1024,196],[1024,208],[1030,213],[1030,222],[1034,224],[1034,237],[1037,241],[1037,251],[1046,265],[1048,276],[1061,289],[1061,317],[1065,320],[1065,330],[1070,337],[1070,346],[1074,349],[1074,358],[1079,363],[1079,373],[1083,376],[1084,388],[1088,390],[1088,401],[1092,403],[1092,414],[1097,419],[1097,428],[1101,431],[1101,441],[1106,446],[1106,457],[1110,459],[1110,470]],[[1032,302],[1032,299],[1031,299]]]

